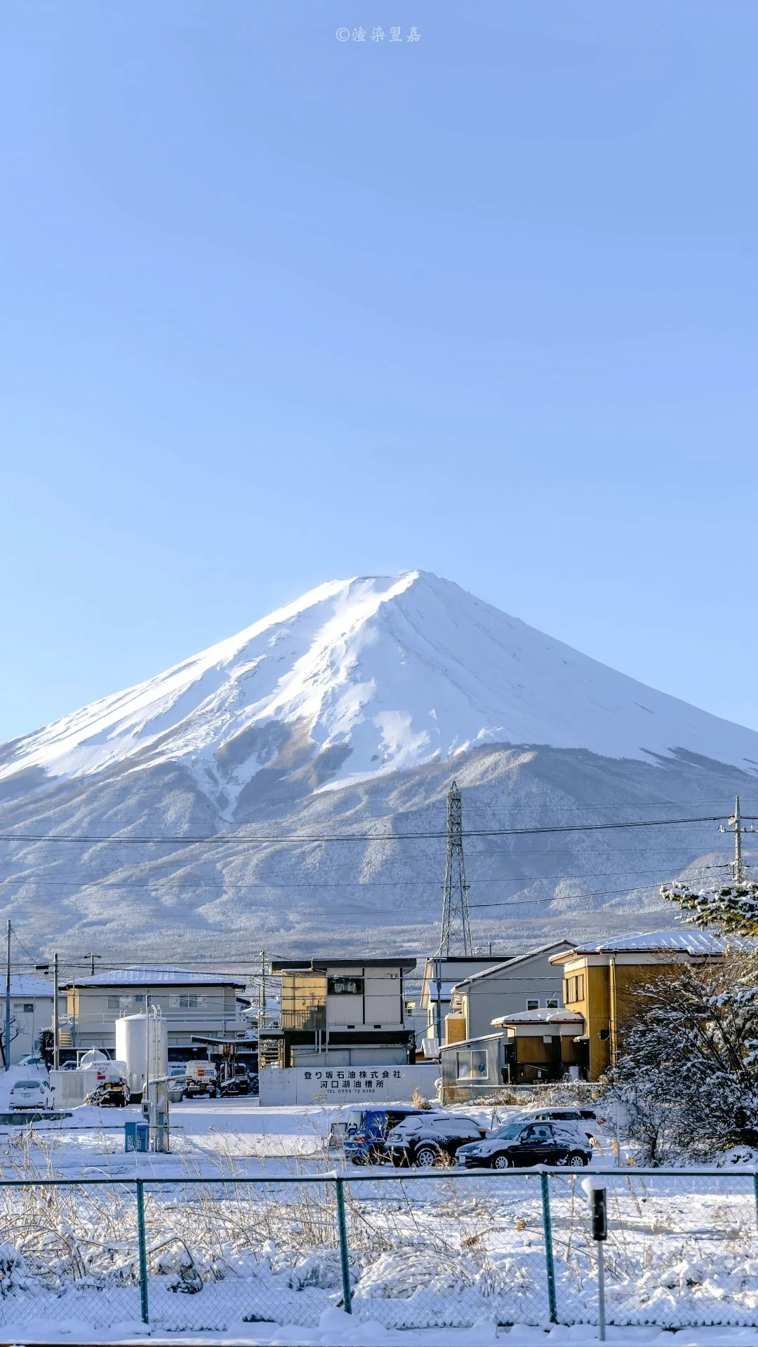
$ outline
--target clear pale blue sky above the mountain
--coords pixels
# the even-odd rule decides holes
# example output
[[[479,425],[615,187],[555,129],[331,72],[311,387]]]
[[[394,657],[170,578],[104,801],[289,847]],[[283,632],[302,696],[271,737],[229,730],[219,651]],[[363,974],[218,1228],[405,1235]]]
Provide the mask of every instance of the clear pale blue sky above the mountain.
[[[417,566],[758,727],[754,0],[4,30],[1,738]]]

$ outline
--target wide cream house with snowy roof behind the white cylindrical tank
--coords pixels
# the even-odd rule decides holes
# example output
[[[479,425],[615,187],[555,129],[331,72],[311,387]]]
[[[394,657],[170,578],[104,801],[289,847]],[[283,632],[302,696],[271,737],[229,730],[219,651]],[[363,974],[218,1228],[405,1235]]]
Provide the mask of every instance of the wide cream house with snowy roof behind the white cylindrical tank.
[[[244,1039],[248,1032],[241,1018],[248,1005],[243,997],[244,982],[225,974],[144,964],[77,978],[62,990],[66,994],[66,1014],[61,1022],[63,1048],[115,1051],[116,1020],[143,1012],[146,998],[167,1021],[169,1055],[174,1057],[192,1056],[197,1040],[229,1041]]]

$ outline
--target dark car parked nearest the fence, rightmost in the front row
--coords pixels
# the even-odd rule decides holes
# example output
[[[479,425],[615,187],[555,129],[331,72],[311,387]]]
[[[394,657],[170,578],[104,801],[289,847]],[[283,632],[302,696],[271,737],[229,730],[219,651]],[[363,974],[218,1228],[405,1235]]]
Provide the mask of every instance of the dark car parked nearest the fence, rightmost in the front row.
[[[460,1146],[456,1164],[467,1169],[522,1169],[529,1165],[568,1165],[581,1169],[592,1160],[592,1146],[580,1125],[565,1122],[508,1122],[483,1141]]]

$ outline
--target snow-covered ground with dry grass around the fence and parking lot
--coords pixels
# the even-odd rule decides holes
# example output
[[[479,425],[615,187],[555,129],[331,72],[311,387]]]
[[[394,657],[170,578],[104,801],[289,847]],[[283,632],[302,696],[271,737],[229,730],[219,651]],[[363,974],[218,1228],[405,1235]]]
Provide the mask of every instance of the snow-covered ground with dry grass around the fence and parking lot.
[[[488,1111],[476,1113],[490,1121]],[[0,1185],[0,1340],[144,1334],[138,1177],[150,1340],[367,1347],[596,1340],[581,1171],[549,1177],[558,1319],[552,1327],[538,1172],[441,1169],[414,1179],[387,1168],[351,1169],[348,1321],[329,1177],[340,1157],[324,1146],[333,1117],[325,1107],[266,1110],[247,1099],[182,1105],[173,1109],[170,1156],[124,1153],[121,1110],[77,1110],[62,1123],[16,1130],[12,1140],[5,1129],[3,1177],[77,1181]],[[614,1162],[607,1138],[602,1148],[595,1168]],[[245,1183],[254,1177],[259,1181]],[[92,1179],[101,1185],[88,1185]],[[758,1343],[753,1169],[626,1171],[611,1175],[608,1188],[608,1340]]]

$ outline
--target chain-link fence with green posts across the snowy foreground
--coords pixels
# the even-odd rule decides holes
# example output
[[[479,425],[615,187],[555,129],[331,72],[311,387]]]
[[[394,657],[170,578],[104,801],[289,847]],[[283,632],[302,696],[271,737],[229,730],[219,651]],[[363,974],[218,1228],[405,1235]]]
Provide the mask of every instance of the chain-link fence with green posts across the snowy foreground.
[[[0,1328],[597,1321],[584,1172],[0,1181]],[[753,1171],[595,1169],[611,1324],[758,1324]],[[248,1328],[250,1332],[250,1328]]]

